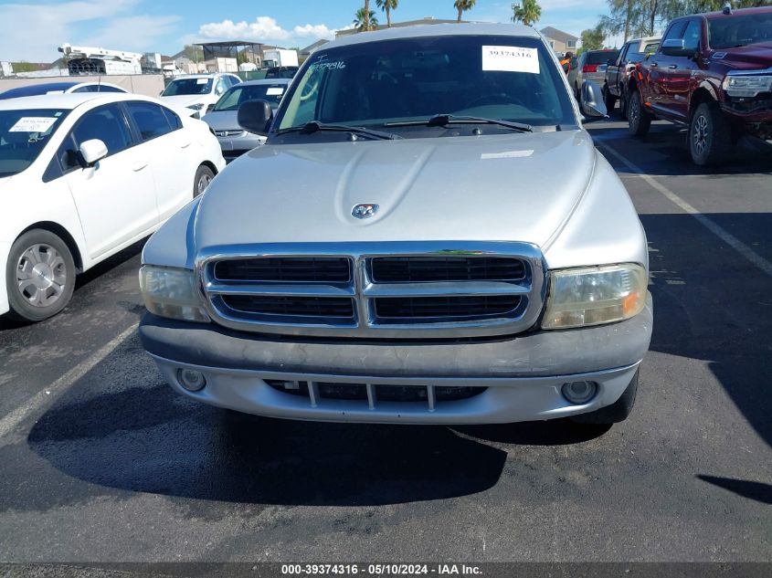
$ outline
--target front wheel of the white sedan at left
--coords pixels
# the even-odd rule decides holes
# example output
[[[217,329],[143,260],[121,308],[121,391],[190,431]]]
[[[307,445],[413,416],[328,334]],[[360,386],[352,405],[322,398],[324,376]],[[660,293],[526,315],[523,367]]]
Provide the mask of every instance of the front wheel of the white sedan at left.
[[[75,261],[58,236],[33,229],[11,246],[5,287],[18,321],[43,321],[67,307],[75,289]]]

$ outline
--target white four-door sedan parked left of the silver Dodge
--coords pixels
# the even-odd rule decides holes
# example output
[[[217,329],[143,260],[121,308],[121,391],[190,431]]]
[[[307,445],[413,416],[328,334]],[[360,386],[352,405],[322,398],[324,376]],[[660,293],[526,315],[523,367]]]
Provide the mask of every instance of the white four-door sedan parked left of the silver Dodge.
[[[157,100],[0,100],[0,314],[58,313],[77,273],[153,233],[224,167],[206,124]]]

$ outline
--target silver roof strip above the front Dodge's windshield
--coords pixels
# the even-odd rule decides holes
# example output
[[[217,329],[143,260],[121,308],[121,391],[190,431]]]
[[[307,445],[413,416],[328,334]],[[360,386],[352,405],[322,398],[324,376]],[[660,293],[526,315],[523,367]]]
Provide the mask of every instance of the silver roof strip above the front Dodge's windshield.
[[[538,38],[534,28],[521,24],[443,24],[442,26],[409,26],[384,28],[361,32],[359,34],[339,37],[325,47],[342,47],[363,42],[377,42],[378,40],[395,40],[398,38],[418,37],[451,37],[451,36],[502,36],[502,37],[531,37]]]

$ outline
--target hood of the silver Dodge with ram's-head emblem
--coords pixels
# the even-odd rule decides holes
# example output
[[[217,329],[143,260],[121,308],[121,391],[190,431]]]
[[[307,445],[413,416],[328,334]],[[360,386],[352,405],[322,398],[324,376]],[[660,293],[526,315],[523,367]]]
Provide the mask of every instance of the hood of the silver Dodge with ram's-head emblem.
[[[405,240],[544,247],[595,162],[592,140],[578,130],[264,145],[207,189],[196,248]],[[378,211],[355,218],[358,204]]]

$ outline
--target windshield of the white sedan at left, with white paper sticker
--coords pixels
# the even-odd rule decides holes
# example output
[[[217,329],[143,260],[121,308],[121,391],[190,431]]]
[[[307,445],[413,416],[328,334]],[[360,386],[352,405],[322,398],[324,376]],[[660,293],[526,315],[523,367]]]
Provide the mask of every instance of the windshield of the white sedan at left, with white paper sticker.
[[[0,177],[35,162],[69,110],[0,110]]]

